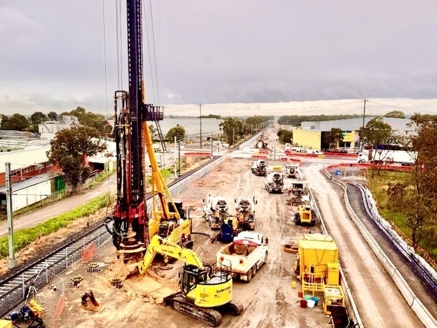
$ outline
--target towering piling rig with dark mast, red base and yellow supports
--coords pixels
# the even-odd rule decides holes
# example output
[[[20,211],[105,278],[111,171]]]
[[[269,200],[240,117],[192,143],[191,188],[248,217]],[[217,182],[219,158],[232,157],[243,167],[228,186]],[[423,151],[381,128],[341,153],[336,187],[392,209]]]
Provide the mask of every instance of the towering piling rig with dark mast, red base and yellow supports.
[[[191,221],[181,216],[157,165],[147,122],[155,122],[165,149],[159,121],[163,107],[145,103],[142,60],[141,0],[127,0],[129,91],[114,95],[115,142],[117,152],[117,201],[113,216],[113,243],[125,262],[140,261],[150,237],[165,230],[163,238],[175,243],[186,240]],[[145,145],[145,149],[144,149]],[[152,168],[153,217],[145,203],[145,150]],[[155,201],[158,203],[156,207]],[[167,229],[160,229],[160,225]],[[173,233],[174,232],[174,233]],[[176,233],[177,232],[177,233]],[[162,234],[162,233],[160,233]]]

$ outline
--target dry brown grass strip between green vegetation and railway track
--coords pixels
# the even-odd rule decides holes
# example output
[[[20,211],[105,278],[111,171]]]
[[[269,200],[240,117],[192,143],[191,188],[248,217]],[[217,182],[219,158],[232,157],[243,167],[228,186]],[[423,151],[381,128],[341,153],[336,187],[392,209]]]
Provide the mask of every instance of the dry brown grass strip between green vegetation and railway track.
[[[15,272],[19,271],[26,265],[29,265],[47,254],[59,249],[66,243],[79,238],[89,230],[99,226],[106,216],[106,208],[102,208],[93,215],[84,216],[71,222],[67,227],[46,236],[41,236],[39,239],[30,243],[21,251],[15,253],[15,258],[19,265],[9,270],[6,266],[6,259],[0,260],[0,280],[3,280]]]

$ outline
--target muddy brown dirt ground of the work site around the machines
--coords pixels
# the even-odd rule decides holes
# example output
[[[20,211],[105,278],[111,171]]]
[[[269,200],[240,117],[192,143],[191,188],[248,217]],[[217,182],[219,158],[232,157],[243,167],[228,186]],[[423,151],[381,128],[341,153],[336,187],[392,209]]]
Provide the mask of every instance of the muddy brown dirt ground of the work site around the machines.
[[[239,317],[223,316],[223,327],[316,327],[324,326],[328,318],[321,311],[321,306],[301,308],[298,301],[298,287],[293,289],[291,283],[296,276],[292,272],[295,254],[283,251],[283,244],[296,242],[304,233],[305,228],[296,226],[292,220],[290,207],[286,206],[286,194],[268,194],[263,189],[263,177],[254,176],[250,172],[250,160],[233,159],[226,161],[223,170],[215,169],[203,180],[203,185],[193,183],[178,199],[195,205],[197,209],[191,212],[193,231],[216,233],[206,225],[202,215],[202,199],[208,194],[224,195],[230,204],[237,196],[255,196],[256,231],[264,233],[269,239],[268,262],[258,271],[250,283],[234,281],[234,299],[243,303],[244,312]],[[314,231],[318,231],[315,228]],[[215,262],[216,251],[223,246],[220,242],[211,244],[203,235],[194,235],[194,250],[205,262]],[[114,266],[114,248],[107,244],[104,254],[97,259],[103,265]],[[173,264],[173,269],[164,271],[155,269],[154,277],[135,278],[123,282],[122,289],[110,286],[108,279],[110,271],[100,274],[86,273],[86,266],[79,265],[75,270],[63,275],[65,281],[72,276],[83,275],[84,281],[79,288],[67,288],[67,302],[62,312],[60,325],[62,327],[107,327],[142,326],[152,327],[159,322],[166,327],[204,327],[205,324],[191,319],[170,307],[154,303],[160,302],[165,293],[171,294],[175,289],[177,272],[183,266],[181,261]],[[149,270],[150,271],[150,270]],[[165,276],[161,278],[160,276]],[[164,286],[164,287],[163,287]],[[92,289],[101,306],[96,312],[83,309],[80,296]],[[57,296],[52,290],[44,290],[47,308],[46,323],[51,324],[53,311],[50,310],[57,302]]]

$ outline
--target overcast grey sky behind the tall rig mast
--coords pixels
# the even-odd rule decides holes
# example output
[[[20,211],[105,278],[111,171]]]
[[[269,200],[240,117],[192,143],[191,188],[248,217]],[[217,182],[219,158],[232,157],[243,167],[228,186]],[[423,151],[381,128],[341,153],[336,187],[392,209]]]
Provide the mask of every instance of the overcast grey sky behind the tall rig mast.
[[[125,1],[121,7],[125,59]],[[437,98],[434,1],[153,0],[152,7],[161,104]],[[110,113],[115,13],[115,1],[105,1]],[[106,111],[102,1],[0,0],[0,31],[0,113]],[[157,103],[147,42],[144,73],[148,102]]]

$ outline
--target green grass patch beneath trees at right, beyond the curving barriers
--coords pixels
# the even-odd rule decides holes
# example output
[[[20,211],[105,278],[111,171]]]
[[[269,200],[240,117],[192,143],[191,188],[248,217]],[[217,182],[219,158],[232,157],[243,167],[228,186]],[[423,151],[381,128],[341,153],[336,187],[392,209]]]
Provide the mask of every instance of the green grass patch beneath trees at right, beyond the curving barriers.
[[[372,191],[373,197],[376,199],[376,202],[378,204],[379,213],[381,214],[381,216],[393,221],[395,225],[409,238],[411,238],[411,229],[406,225],[407,216],[400,211],[396,211],[395,209],[389,209],[387,207],[387,188],[389,182],[404,183],[408,180],[410,174],[412,174],[412,172],[382,170],[381,175],[377,175],[375,173],[375,176],[372,179],[371,174],[369,173],[369,187]],[[432,249],[432,247],[430,247],[430,243],[426,234],[423,235],[419,246],[427,250],[430,256],[435,259],[434,254],[436,249]]]

